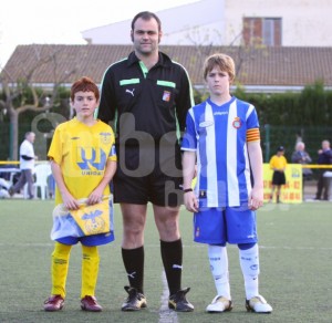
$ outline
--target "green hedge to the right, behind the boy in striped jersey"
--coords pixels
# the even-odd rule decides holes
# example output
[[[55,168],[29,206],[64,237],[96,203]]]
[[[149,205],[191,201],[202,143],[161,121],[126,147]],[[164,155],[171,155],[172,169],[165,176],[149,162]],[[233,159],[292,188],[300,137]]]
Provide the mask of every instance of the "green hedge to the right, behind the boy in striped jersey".
[[[304,140],[313,164],[321,142],[332,140],[332,91],[324,91],[320,81],[305,86],[301,93],[246,93],[237,84],[232,94],[256,106],[266,163],[280,145],[286,147],[286,157],[290,162],[297,135]],[[205,97],[206,94],[196,97],[196,102],[201,102]]]

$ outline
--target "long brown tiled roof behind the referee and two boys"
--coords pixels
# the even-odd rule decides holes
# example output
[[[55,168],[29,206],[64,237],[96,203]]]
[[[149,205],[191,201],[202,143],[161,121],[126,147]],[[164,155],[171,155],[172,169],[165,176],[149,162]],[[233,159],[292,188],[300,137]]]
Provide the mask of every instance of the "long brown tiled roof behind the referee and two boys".
[[[72,83],[83,75],[100,83],[112,63],[127,56],[132,45],[19,45],[4,66],[12,82],[24,77],[38,62],[33,83]],[[332,86],[332,48],[160,46],[183,64],[194,85],[203,84],[203,62],[215,52],[230,54],[237,65],[236,80],[248,86],[303,86],[322,80]],[[53,60],[48,58],[52,56]],[[3,73],[3,71],[2,71]]]

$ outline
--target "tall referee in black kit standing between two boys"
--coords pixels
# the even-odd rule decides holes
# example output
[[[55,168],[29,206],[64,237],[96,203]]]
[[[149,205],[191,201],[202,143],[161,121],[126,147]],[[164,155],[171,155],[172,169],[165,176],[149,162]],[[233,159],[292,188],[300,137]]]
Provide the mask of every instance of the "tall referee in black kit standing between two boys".
[[[181,289],[183,243],[178,226],[183,201],[179,131],[194,105],[186,70],[158,50],[163,32],[149,11],[132,21],[134,51],[111,65],[102,81],[98,118],[116,118],[118,167],[114,201],[123,216],[122,257],[129,286],[122,311],[146,308],[144,296],[144,228],[152,202],[169,289],[168,308],[194,310]]]

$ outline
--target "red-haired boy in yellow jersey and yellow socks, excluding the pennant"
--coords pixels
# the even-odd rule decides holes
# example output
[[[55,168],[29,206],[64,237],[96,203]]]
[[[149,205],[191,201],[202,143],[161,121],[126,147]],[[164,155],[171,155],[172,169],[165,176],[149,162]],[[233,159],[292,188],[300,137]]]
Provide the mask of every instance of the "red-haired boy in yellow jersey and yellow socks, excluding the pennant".
[[[71,87],[71,104],[76,116],[59,125],[51,143],[48,157],[56,183],[55,204],[68,211],[80,209],[80,199],[86,199],[87,206],[98,206],[103,198],[110,196],[108,183],[116,170],[114,133],[112,128],[94,118],[98,105],[100,92],[89,77],[82,77]],[[110,206],[110,212],[112,205]],[[53,229],[56,227],[53,217]],[[82,290],[81,309],[100,312],[102,306],[94,296],[97,281],[100,257],[97,246],[114,240],[113,220],[110,231],[91,236],[61,235],[52,253],[52,292],[44,302],[45,311],[59,311],[63,308],[65,282],[70,252],[73,244],[82,244]],[[59,232],[60,231],[60,232]],[[61,238],[59,238],[61,237]]]

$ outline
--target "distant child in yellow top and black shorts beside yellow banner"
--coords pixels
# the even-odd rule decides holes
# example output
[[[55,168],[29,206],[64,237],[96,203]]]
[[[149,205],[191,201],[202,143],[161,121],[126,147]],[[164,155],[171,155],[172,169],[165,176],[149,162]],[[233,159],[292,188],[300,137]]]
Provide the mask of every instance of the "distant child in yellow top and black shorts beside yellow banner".
[[[270,202],[273,200],[276,189],[277,204],[280,202],[281,186],[286,184],[284,170],[287,167],[287,159],[283,155],[284,148],[283,146],[280,146],[277,149],[277,154],[273,155],[270,159],[270,168],[273,170]]]

